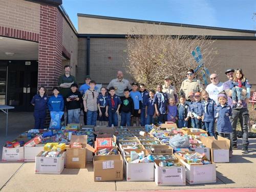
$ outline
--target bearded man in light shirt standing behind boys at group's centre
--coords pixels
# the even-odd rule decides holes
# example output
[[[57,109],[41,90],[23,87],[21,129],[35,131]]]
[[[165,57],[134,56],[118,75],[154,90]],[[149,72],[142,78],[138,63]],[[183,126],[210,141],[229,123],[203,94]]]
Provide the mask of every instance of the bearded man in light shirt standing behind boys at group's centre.
[[[117,78],[116,79],[112,79],[108,85],[108,87],[106,87],[107,89],[110,89],[111,87],[115,88],[115,94],[119,97],[124,96],[123,95],[123,91],[124,89],[129,89],[131,90],[131,84],[128,80],[123,78],[123,72],[122,71],[118,71],[117,72]]]

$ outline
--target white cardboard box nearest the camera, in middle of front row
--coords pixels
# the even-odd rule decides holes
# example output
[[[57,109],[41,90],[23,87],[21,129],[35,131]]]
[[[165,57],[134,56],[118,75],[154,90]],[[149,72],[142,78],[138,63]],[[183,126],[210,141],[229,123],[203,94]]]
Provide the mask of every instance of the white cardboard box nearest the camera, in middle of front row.
[[[159,162],[161,160],[155,160],[155,183],[157,186],[169,186],[169,185],[186,185],[186,173],[185,166],[164,166],[160,167]],[[173,162],[179,162],[179,160],[172,160]]]

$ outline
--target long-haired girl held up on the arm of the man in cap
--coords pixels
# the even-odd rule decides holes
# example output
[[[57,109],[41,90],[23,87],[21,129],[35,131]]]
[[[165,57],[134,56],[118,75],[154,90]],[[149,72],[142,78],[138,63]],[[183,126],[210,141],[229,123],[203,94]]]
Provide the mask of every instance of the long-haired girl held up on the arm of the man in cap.
[[[242,87],[246,87],[246,98],[250,98],[250,88],[251,85],[249,81],[245,78],[242,69],[237,69],[233,74],[233,82],[230,84],[230,89],[232,90],[232,100],[233,100],[233,108],[242,108]],[[238,103],[236,101],[238,97]]]

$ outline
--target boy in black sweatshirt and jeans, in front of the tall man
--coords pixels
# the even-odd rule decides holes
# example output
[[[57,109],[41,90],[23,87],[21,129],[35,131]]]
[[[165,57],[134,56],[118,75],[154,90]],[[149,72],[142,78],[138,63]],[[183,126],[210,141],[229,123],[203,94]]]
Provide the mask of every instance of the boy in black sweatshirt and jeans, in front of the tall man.
[[[71,84],[71,91],[67,95],[68,123],[79,123],[82,95],[76,83]]]

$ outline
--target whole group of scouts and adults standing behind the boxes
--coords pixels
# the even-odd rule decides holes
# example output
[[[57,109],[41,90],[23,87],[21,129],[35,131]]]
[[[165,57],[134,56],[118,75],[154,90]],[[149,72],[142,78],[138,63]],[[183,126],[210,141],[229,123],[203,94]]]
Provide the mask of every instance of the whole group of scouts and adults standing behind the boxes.
[[[211,74],[211,83],[205,89],[195,78],[194,70],[187,70],[187,78],[182,82],[179,94],[170,76],[164,78],[163,85],[157,85],[156,91],[147,91],[145,84],[130,84],[121,71],[117,72],[117,78],[100,90],[90,76],[86,76],[86,83],[78,89],[75,77],[70,74],[70,66],[64,69],[65,74],[59,77],[59,87],[53,88],[53,96],[48,99],[45,88],[40,87],[31,101],[35,106],[36,129],[44,128],[47,106],[50,112],[64,111],[66,106],[68,123],[80,122],[81,109],[84,124],[88,125],[96,125],[98,120],[100,125],[118,126],[119,114],[120,126],[172,121],[178,127],[200,128],[209,136],[216,136],[217,132],[229,138],[232,152],[232,148],[237,148],[239,118],[243,132],[242,153],[248,153],[250,84],[241,69],[227,70],[225,74],[229,80],[224,83],[219,81],[217,74]]]

